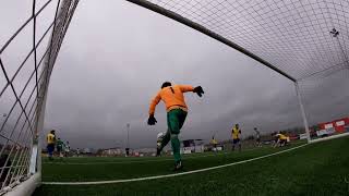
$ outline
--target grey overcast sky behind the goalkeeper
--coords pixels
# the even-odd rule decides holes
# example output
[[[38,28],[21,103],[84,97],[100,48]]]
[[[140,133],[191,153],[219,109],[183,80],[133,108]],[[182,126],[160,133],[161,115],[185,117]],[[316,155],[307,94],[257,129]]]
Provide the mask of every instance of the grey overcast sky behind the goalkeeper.
[[[9,19],[1,20],[1,24],[8,24],[0,26],[5,32],[0,34],[1,46],[31,13],[29,1],[7,3],[7,8],[0,8],[0,19]],[[43,14],[40,27],[47,26],[53,10],[51,7]],[[16,52],[19,47],[26,53],[31,41],[26,36],[19,38],[19,44],[13,44],[17,48],[9,48],[1,57],[4,63],[20,61],[17,56],[23,54]],[[13,73],[13,68],[8,69]],[[348,77],[347,72],[339,74]],[[0,79],[4,84],[2,75]],[[165,81],[201,85],[205,90],[202,98],[185,94],[190,111],[182,139],[207,140],[214,133],[218,139],[227,139],[234,123],[241,125],[243,136],[253,134],[254,126],[269,133],[302,125],[294,85],[286,77],[135,4],[84,0],[76,9],[50,79],[45,134],[55,128],[73,148],[124,147],[130,123],[131,147],[154,147],[157,133],[167,130],[166,113],[164,105],[158,105],[158,123],[148,126],[148,105]],[[348,107],[342,106],[348,95],[333,96],[348,87],[341,81],[335,87],[333,83],[318,85],[316,81],[302,88],[311,123],[348,114]]]

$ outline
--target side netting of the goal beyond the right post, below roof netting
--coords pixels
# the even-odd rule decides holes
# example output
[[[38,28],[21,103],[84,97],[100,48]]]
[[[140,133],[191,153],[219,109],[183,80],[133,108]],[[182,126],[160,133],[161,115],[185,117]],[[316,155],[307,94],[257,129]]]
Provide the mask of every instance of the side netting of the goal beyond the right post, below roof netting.
[[[315,131],[324,128],[320,124],[349,117],[348,84],[349,69],[346,68],[334,68],[299,82],[313,138],[317,137]],[[349,131],[349,124],[344,125]]]

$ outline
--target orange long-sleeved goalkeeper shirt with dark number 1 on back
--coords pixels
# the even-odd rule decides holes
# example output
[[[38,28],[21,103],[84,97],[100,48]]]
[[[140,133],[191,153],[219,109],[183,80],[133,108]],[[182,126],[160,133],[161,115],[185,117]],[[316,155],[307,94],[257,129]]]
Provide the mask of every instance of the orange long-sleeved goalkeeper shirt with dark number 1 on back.
[[[183,93],[193,91],[194,87],[189,85],[174,85],[160,89],[151,102],[149,114],[154,114],[155,107],[160,100],[165,102],[166,110],[176,108],[188,110]]]

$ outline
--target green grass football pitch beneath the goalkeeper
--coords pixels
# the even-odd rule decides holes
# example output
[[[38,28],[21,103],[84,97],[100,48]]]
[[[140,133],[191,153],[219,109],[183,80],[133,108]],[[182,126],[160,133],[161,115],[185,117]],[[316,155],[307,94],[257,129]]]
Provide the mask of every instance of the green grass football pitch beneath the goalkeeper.
[[[184,156],[184,172],[300,146]],[[172,158],[69,158],[43,164],[44,182],[127,180],[174,173]],[[41,185],[39,195],[349,195],[349,137],[225,168],[157,180],[99,185]]]

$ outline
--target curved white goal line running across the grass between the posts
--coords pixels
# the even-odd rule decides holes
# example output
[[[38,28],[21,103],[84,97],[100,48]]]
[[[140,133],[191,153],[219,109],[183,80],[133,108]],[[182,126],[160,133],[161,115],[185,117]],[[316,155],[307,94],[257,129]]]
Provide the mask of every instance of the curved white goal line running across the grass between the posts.
[[[210,167],[210,168],[205,168],[205,169],[200,169],[200,170],[193,170],[193,171],[188,171],[188,172],[181,172],[181,173],[172,173],[172,174],[166,174],[166,175],[155,175],[155,176],[147,176],[147,177],[136,177],[136,179],[124,179],[124,180],[116,180],[116,181],[95,181],[95,182],[43,182],[43,184],[47,184],[47,185],[93,185],[93,184],[116,184],[116,183],[125,183],[125,182],[137,182],[137,181],[148,181],[148,180],[155,180],[155,179],[166,179],[166,177],[173,177],[173,176],[180,176],[180,175],[188,175],[188,174],[193,174],[193,173],[200,173],[200,172],[204,172],[204,171],[209,171],[209,170],[216,170],[216,169],[220,169],[220,168],[227,168],[230,166],[236,166],[236,164],[242,164],[242,163],[246,163],[246,162],[251,162],[251,161],[255,161],[255,160],[260,160],[260,159],[264,159],[267,157],[272,157],[272,156],[276,156],[279,154],[284,154],[287,151],[291,151],[298,148],[302,148],[304,146],[306,146],[308,144],[301,145],[301,146],[297,146],[293,148],[289,148],[286,150],[281,150],[281,151],[277,151],[274,154],[269,154],[269,155],[265,155],[265,156],[261,156],[261,157],[256,157],[256,158],[252,158],[252,159],[248,159],[248,160],[242,160],[242,161],[237,161],[237,162],[231,162],[231,163],[227,163],[227,164],[221,164],[221,166],[216,166],[216,167]]]

